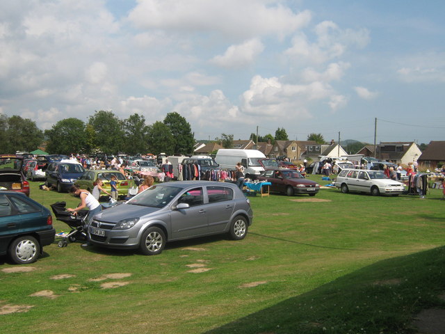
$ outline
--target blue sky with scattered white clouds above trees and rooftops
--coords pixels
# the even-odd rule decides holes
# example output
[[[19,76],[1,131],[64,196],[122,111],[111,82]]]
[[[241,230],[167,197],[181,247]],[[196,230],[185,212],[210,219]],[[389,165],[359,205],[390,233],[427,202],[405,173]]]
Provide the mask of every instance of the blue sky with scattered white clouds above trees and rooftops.
[[[444,1],[1,1],[0,113],[445,140]]]

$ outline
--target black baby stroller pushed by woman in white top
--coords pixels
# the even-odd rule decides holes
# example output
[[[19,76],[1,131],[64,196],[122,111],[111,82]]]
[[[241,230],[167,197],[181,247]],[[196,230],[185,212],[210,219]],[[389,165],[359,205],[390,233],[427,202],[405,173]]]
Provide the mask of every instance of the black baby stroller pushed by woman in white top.
[[[58,221],[63,221],[63,223],[70,226],[71,231],[58,241],[59,247],[68,246],[68,241],[74,242],[76,240],[86,240],[86,232],[83,230],[84,219],[88,214],[88,210],[81,210],[74,216],[72,212],[66,211],[66,202],[55,202],[51,204],[50,207],[54,212],[54,216]]]

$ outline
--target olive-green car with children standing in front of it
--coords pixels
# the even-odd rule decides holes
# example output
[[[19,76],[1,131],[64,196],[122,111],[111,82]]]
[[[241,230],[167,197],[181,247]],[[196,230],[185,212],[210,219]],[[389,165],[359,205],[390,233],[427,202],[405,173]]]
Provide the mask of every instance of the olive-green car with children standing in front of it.
[[[85,173],[77,179],[74,184],[76,186],[79,186],[81,189],[86,189],[88,191],[92,191],[92,189],[95,187],[94,183],[97,179],[101,179],[104,184],[102,185],[102,188],[104,190],[108,191],[108,193],[111,191],[110,181],[111,176],[115,175],[115,177],[118,178],[118,182],[116,182],[116,187],[118,188],[118,196],[127,196],[128,189],[131,188],[131,180],[127,180],[122,173],[120,173],[119,170],[113,170],[113,169],[99,169],[99,170],[86,170]]]

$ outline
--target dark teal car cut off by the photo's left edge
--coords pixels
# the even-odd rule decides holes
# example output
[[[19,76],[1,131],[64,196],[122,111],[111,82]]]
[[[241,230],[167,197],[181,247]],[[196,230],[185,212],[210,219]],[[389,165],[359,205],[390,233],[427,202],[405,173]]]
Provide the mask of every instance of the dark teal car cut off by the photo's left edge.
[[[33,263],[55,234],[49,209],[24,193],[0,192],[0,255],[16,264]]]

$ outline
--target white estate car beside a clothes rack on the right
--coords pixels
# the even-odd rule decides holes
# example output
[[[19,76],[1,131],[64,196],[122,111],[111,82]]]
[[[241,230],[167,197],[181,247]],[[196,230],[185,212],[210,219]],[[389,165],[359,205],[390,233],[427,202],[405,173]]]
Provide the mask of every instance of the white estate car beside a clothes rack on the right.
[[[398,196],[405,191],[403,183],[390,180],[380,170],[343,169],[334,185],[341,189],[342,193],[357,191],[371,193],[373,196],[380,194]]]

